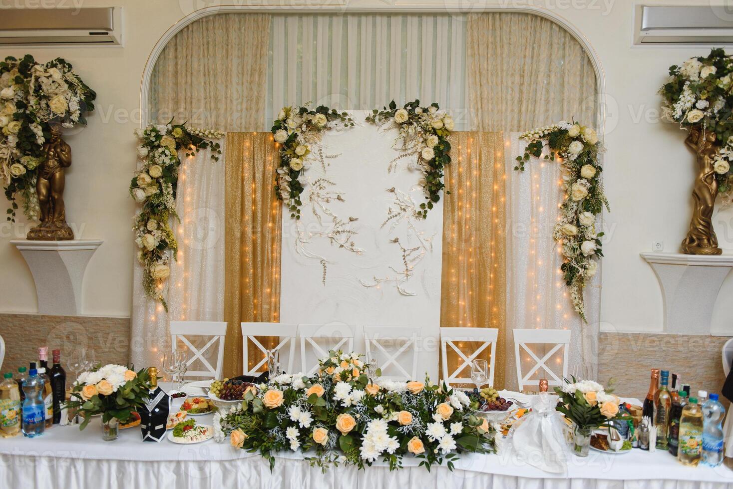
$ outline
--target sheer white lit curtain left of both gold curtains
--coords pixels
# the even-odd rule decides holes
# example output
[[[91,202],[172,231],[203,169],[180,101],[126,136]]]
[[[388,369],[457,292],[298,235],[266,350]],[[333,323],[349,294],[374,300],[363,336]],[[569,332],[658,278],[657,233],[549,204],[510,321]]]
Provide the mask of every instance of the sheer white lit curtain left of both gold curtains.
[[[172,228],[178,242],[177,260],[171,261],[166,292],[169,312],[145,296],[142,267],[133,274],[132,348],[130,361],[137,368],[161,366],[171,347],[169,321],[222,321],[224,318],[224,139],[222,154],[210,150],[194,157],[179,153],[176,212],[180,223]]]

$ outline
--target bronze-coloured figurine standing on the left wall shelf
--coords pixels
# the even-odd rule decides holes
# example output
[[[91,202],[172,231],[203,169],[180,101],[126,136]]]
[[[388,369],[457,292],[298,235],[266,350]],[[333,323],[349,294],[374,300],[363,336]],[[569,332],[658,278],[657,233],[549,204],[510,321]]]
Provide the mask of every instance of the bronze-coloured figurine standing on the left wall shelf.
[[[28,239],[74,239],[74,233],[66,223],[64,207],[64,169],[71,165],[71,147],[61,138],[61,132],[60,124],[51,124],[51,139],[43,145],[45,160],[38,165],[36,181],[41,222],[28,231]]]

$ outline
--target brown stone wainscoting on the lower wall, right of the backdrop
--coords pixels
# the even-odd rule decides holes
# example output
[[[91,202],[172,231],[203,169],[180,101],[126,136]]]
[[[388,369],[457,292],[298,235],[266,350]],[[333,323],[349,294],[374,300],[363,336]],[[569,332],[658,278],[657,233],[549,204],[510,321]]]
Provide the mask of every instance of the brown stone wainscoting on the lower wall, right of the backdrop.
[[[644,400],[652,368],[679,373],[693,395],[700,389],[720,394],[723,344],[727,336],[602,332],[598,381],[614,379],[616,393]],[[671,379],[670,379],[671,381]],[[723,404],[728,401],[721,397]]]

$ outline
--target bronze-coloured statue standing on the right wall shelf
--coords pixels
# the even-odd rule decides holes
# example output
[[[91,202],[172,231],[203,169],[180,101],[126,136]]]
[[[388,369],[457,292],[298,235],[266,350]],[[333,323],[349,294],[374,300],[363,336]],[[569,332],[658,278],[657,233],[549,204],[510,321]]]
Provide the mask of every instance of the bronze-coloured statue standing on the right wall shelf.
[[[696,154],[699,173],[692,191],[695,205],[690,231],[682,242],[682,252],[687,255],[720,255],[723,250],[718,247],[718,237],[711,220],[715,196],[718,195],[718,180],[713,169],[713,158],[719,149],[715,143],[715,132],[703,132],[699,126],[693,126],[685,144]]]

